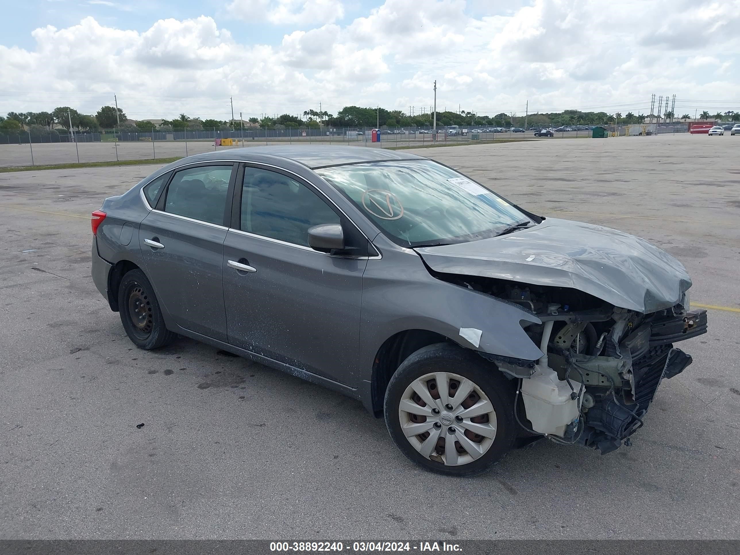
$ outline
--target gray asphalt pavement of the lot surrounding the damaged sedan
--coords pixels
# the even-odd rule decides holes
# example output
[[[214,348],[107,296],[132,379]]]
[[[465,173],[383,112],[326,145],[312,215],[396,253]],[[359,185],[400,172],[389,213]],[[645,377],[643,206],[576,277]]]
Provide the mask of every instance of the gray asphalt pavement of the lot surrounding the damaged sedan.
[[[425,149],[542,215],[642,235],[710,309],[633,446],[408,462],[357,401],[181,339],[129,342],[90,212],[157,166],[0,174],[0,539],[740,539],[740,138]]]

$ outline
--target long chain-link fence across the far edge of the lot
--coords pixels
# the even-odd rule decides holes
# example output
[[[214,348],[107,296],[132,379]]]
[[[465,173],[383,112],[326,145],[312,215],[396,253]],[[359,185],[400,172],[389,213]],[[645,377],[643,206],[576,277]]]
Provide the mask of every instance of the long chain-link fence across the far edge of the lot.
[[[535,129],[438,126],[381,127],[244,127],[243,129],[139,129],[127,127],[95,132],[69,132],[31,126],[13,132],[0,131],[0,166],[36,166],[104,161],[157,161],[219,149],[286,144],[343,144],[357,147],[426,147],[475,141],[534,138]],[[637,126],[633,126],[636,128]],[[612,129],[610,129],[613,131]],[[633,134],[619,129],[620,134]],[[670,132],[682,131],[681,126]],[[659,129],[659,132],[669,132]],[[555,137],[591,137],[590,130],[558,131]]]

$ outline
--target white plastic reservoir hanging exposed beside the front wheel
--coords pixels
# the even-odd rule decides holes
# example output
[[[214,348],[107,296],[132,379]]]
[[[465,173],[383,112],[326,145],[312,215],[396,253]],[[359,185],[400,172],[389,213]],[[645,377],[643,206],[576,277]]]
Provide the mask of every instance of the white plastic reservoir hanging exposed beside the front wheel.
[[[581,384],[571,380],[576,393]],[[565,428],[579,415],[581,398],[571,399],[573,392],[568,382],[559,380],[556,371],[548,366],[536,366],[528,380],[522,380],[522,398],[532,429],[540,434],[565,435]]]

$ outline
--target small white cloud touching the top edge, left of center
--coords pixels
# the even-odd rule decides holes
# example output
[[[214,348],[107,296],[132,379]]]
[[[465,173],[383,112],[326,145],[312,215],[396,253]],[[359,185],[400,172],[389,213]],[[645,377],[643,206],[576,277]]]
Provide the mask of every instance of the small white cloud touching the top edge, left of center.
[[[344,17],[340,0],[232,0],[229,13],[244,21],[266,19],[275,25],[333,23]]]

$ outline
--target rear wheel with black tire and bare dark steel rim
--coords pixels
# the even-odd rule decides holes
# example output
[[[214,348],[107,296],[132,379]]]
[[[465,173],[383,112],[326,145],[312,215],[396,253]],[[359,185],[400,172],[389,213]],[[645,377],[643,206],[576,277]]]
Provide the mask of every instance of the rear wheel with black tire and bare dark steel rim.
[[[139,349],[158,349],[177,337],[166,329],[152,284],[140,269],[127,272],[121,280],[118,311],[126,334]]]

